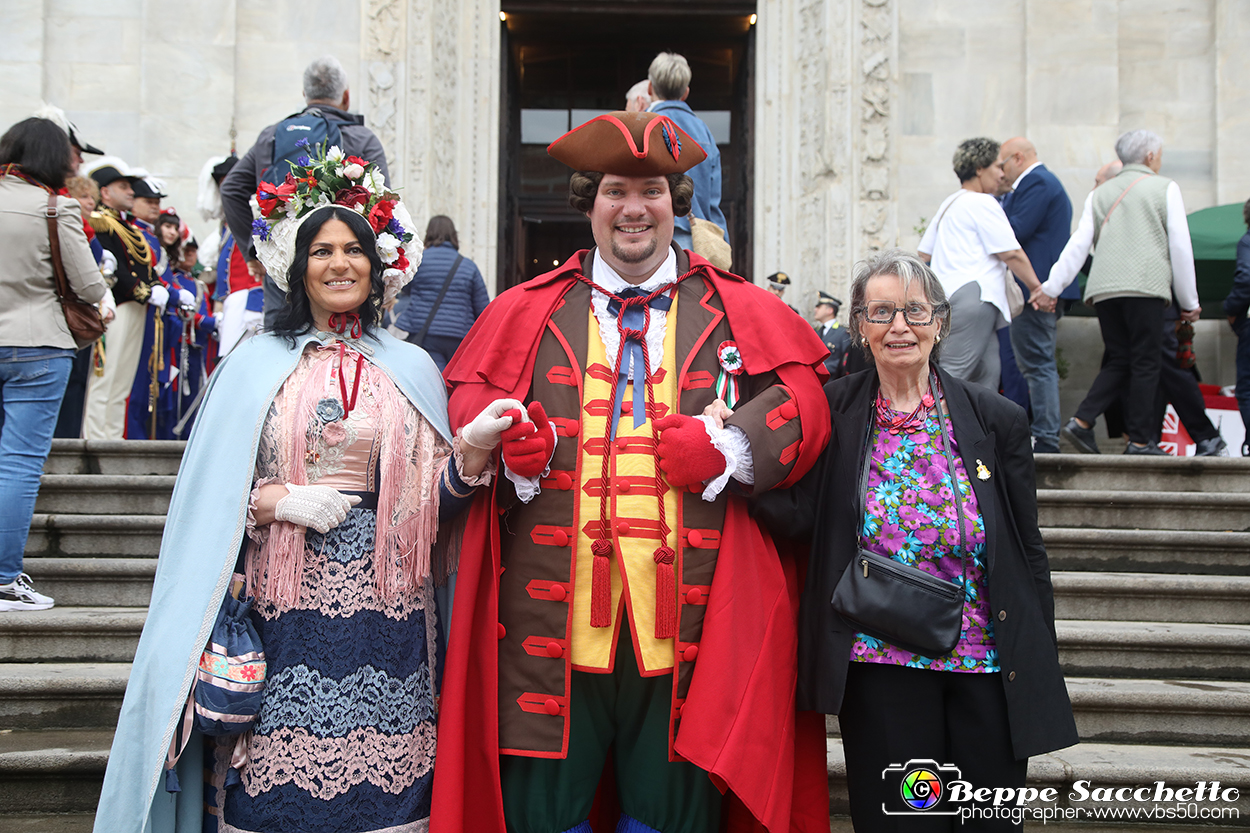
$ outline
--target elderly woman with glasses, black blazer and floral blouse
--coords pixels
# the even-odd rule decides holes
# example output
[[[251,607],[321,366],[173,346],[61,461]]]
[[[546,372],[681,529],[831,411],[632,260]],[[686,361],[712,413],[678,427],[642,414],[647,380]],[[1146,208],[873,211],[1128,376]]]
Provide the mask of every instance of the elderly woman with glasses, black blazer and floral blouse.
[[[932,798],[916,772],[924,768],[908,762],[952,764],[975,788],[1019,788],[1029,757],[1076,743],[1076,727],[1024,410],[938,366],[950,305],[911,254],[885,251],[856,266],[850,326],[870,368],[825,386],[829,447],[798,487],[759,499],[756,515],[811,542],[799,708],[839,715],[855,829],[906,830],[914,817],[884,814],[882,803],[901,813],[956,809],[940,792]],[[904,605],[886,607],[876,635],[849,619],[855,612],[835,589],[859,585],[851,578],[866,578],[869,563],[874,578],[908,573],[901,565],[944,580],[954,648],[922,655],[882,638],[908,642],[892,633],[930,624]],[[939,825],[924,829],[952,818],[931,815]]]

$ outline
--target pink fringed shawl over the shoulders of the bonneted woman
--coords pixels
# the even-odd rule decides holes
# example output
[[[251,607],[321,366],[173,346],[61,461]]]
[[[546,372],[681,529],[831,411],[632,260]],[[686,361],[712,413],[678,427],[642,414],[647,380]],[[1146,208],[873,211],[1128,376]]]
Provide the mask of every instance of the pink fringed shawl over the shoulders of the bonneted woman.
[[[300,358],[265,419],[256,485],[308,484],[306,455],[320,425],[316,405],[326,396],[339,398],[338,381],[331,378],[338,364],[338,344],[310,346]],[[355,354],[349,351],[342,364],[350,378],[356,368]],[[384,371],[369,361],[360,368],[356,408],[371,409],[381,442],[374,549],[378,594],[394,602],[400,594],[416,592],[430,575],[430,550],[439,529],[438,483],[451,449]],[[252,535],[246,558],[249,595],[269,599],[279,609],[289,609],[299,600],[304,533],[304,527],[275,520],[268,534],[258,530]]]

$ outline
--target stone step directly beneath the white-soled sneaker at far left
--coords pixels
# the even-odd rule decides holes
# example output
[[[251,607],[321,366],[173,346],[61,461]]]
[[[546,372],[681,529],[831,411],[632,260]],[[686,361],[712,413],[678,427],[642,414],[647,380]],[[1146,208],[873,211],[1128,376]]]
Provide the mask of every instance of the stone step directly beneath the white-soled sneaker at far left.
[[[0,662],[129,663],[146,608],[52,608],[0,613]]]

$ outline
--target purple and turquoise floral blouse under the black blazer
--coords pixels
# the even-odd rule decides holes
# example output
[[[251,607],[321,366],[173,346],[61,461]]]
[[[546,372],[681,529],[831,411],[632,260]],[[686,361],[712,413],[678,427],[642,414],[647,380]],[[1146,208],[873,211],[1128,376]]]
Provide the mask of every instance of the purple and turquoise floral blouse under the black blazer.
[[[946,423],[949,429],[950,420]],[[959,524],[939,430],[935,413],[930,413],[924,428],[914,434],[875,429],[860,545],[958,584],[961,578]],[[852,662],[948,672],[999,670],[994,619],[985,589],[985,523],[959,447],[952,433],[949,437],[964,503],[964,542],[969,547],[964,632],[959,644],[945,657],[921,657],[858,633],[851,647]]]

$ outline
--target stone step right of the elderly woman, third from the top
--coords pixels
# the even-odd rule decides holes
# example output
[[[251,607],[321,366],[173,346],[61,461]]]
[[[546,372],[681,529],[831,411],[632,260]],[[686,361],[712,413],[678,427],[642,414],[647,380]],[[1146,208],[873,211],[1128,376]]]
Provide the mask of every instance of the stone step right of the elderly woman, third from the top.
[[[1042,527],[1052,570],[1250,575],[1250,533]]]

